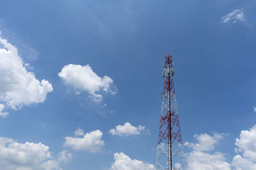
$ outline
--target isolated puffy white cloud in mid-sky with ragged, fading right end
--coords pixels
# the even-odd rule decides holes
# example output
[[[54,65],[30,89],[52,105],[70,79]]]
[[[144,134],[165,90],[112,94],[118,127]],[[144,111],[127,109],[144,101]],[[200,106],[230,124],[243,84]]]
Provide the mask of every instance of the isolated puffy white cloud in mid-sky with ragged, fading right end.
[[[102,101],[101,91],[116,94],[117,89],[113,85],[113,80],[109,76],[101,78],[89,65],[81,66],[68,64],[64,66],[60,73],[60,78],[67,85],[71,85],[79,92],[86,91],[93,98],[93,101]]]

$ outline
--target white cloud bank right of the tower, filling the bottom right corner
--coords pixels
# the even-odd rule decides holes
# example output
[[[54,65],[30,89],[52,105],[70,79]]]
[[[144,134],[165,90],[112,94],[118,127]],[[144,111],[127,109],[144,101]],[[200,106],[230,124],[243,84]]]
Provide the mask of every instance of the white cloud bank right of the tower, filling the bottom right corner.
[[[184,143],[185,146],[193,150],[187,155],[188,170],[192,169],[236,169],[236,170],[253,170],[256,169],[256,125],[251,129],[241,131],[239,138],[236,139],[235,155],[231,163],[226,162],[223,153],[207,153],[214,149],[214,145],[223,138],[221,134],[195,135],[198,143]]]

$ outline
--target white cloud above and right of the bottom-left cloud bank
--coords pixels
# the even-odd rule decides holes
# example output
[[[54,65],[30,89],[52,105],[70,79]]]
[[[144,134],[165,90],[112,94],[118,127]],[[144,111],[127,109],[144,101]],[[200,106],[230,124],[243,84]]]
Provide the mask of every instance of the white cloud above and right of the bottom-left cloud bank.
[[[74,150],[88,150],[89,152],[99,152],[100,148],[105,145],[100,130],[84,134],[83,138],[65,137],[65,146],[70,146]]]

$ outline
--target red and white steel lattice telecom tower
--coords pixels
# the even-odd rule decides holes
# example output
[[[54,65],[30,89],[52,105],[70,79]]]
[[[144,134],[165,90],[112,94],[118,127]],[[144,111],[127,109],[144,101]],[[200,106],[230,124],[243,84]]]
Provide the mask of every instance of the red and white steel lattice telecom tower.
[[[179,114],[175,97],[173,56],[167,53],[163,64],[164,89],[161,93],[162,108],[157,143],[156,168],[182,169],[184,164]]]

